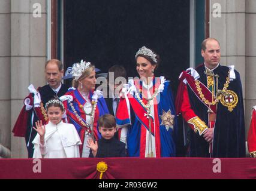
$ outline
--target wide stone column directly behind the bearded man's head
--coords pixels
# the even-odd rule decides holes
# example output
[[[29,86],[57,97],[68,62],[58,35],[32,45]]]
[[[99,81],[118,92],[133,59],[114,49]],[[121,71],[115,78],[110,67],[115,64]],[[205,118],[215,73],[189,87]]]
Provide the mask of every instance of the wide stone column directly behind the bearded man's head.
[[[245,97],[245,1],[212,0],[210,6],[210,37],[221,44],[221,64],[232,64],[240,73]],[[221,8],[219,17],[215,6]]]

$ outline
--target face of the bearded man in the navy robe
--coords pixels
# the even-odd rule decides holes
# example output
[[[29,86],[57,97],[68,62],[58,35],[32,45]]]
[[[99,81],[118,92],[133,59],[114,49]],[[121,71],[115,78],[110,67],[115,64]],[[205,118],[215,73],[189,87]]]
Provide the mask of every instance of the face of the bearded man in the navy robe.
[[[221,47],[215,40],[206,42],[206,50],[201,50],[201,55],[204,58],[204,63],[209,69],[215,68],[221,60]]]

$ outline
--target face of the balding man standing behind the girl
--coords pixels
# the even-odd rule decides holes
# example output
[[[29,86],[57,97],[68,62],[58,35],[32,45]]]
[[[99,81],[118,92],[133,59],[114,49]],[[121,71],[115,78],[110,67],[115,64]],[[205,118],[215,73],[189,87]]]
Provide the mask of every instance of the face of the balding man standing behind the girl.
[[[46,66],[46,80],[51,88],[56,89],[61,84],[64,70],[59,71],[56,63],[48,63]]]

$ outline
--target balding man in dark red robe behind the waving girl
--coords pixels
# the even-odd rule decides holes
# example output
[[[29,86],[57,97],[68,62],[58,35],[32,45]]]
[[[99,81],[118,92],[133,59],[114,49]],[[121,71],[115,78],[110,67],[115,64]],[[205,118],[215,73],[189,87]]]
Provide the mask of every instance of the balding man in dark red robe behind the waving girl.
[[[33,85],[29,85],[29,96],[24,100],[24,106],[13,128],[14,136],[25,137],[26,146],[28,149],[28,157],[32,158],[34,145],[32,141],[37,135],[37,132],[32,128],[35,127],[35,122],[38,120],[46,124],[48,121],[44,104],[51,98],[61,97],[68,91],[68,86],[61,83],[64,69],[61,61],[49,60],[45,65],[45,74],[47,85],[38,87],[35,90]]]

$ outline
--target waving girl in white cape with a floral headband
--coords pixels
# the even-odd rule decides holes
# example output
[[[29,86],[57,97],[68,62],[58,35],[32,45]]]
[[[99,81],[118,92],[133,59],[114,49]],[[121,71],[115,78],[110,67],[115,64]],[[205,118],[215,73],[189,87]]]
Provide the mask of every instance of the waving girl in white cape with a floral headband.
[[[34,144],[33,158],[78,158],[79,144],[82,144],[79,134],[73,124],[62,121],[65,113],[64,105],[58,98],[46,103],[46,112],[49,118],[47,125],[42,121],[35,123],[37,135],[32,141]]]

